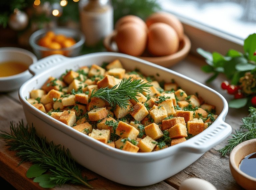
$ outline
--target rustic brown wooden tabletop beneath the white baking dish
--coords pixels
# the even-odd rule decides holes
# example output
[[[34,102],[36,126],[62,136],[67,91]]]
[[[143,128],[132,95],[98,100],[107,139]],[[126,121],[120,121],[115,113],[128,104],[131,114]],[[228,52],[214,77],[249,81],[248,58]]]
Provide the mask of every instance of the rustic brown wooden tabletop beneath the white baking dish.
[[[200,67],[204,64],[204,59],[189,54],[185,60],[181,61],[175,66],[172,66],[170,69],[193,78],[201,83],[204,83],[205,80],[210,76],[210,74],[206,74],[200,70]],[[220,88],[221,82],[225,79],[226,78],[224,76],[218,76],[217,79],[209,85],[209,87],[221,93],[228,101],[232,98],[232,96]],[[225,122],[231,125],[234,133],[234,131],[239,129],[240,125],[242,124],[241,119],[248,116],[248,114],[248,108],[229,109]],[[10,132],[10,122],[17,124],[21,120],[26,123],[23,108],[19,102],[18,91],[11,93],[0,93],[0,130]],[[218,149],[223,148],[225,144],[227,144],[227,139],[207,151],[205,154],[203,154],[202,157],[200,157],[197,161],[195,161],[181,172],[151,186],[125,186],[101,177],[100,175],[86,168],[82,168],[82,172],[87,176],[88,179],[97,177],[96,180],[90,181],[89,183],[95,189],[101,190],[176,190],[179,188],[183,180],[190,177],[205,179],[211,182],[218,190],[243,189],[236,183],[230,172],[229,155],[221,157],[221,154],[217,151]],[[31,164],[26,162],[17,167],[19,161],[20,160],[15,156],[15,153],[8,150],[6,143],[3,140],[0,140],[0,176],[8,181],[16,189],[43,189],[38,185],[38,183],[34,183],[32,179],[28,179],[26,177],[26,171]],[[11,189],[11,187],[9,189]],[[86,187],[65,184],[61,187],[56,186],[53,189],[86,189]]]

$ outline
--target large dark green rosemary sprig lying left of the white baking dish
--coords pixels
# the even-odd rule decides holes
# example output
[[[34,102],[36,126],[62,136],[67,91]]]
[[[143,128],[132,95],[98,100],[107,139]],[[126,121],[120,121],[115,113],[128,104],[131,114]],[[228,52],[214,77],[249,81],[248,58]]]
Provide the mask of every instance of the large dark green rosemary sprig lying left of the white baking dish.
[[[16,127],[11,123],[10,129],[10,134],[1,131],[0,139],[7,142],[10,150],[17,151],[16,155],[21,158],[18,165],[30,161],[47,169],[49,173],[48,182],[52,185],[51,187],[73,183],[82,184],[93,189],[88,184],[87,178],[82,177],[75,161],[67,156],[69,151],[65,152],[64,147],[54,145],[53,142],[47,144],[45,138],[37,138],[35,128],[33,126],[28,128],[28,125],[25,127],[23,121],[19,122]]]

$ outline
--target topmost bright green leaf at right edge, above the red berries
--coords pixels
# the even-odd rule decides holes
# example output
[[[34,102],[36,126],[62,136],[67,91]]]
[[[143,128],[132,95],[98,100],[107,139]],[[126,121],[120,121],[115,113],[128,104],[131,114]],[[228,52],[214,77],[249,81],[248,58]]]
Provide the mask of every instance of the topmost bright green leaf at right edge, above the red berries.
[[[249,55],[249,59],[252,61],[256,61],[256,56],[254,52],[256,51],[256,34],[251,34],[244,41],[244,51]]]

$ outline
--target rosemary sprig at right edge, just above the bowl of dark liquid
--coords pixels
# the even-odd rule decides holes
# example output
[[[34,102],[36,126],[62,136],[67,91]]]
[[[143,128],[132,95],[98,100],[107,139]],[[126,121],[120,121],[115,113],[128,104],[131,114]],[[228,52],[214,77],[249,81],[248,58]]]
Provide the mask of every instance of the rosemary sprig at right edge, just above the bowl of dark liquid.
[[[240,130],[236,131],[236,134],[231,135],[233,139],[229,139],[228,144],[218,150],[221,156],[225,156],[228,152],[231,152],[231,150],[241,142],[256,139],[256,108],[250,107],[249,111],[249,117],[242,118],[243,125]]]

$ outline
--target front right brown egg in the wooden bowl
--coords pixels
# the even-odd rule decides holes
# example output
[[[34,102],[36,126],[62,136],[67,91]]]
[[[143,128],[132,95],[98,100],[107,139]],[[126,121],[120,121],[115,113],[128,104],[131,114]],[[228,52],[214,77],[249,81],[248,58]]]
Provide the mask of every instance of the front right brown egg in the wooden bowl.
[[[170,55],[178,51],[177,32],[165,23],[154,23],[148,28],[148,51],[155,56]]]

